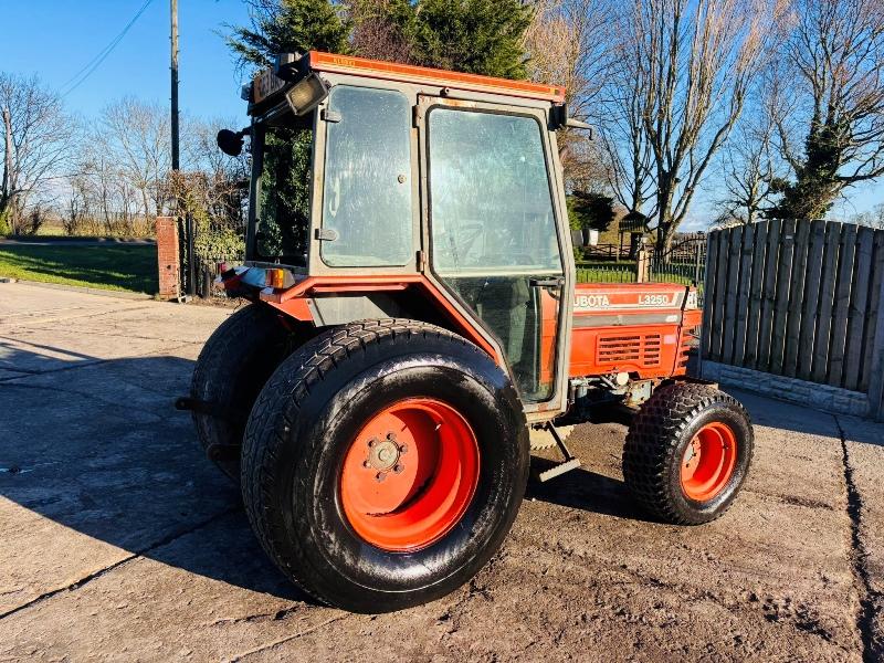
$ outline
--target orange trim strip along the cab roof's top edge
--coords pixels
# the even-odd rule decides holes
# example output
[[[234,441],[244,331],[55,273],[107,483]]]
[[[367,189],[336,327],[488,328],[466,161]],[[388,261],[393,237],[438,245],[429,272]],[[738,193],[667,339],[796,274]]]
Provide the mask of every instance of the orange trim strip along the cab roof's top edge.
[[[334,53],[319,51],[311,51],[309,66],[312,70],[319,72],[358,74],[385,81],[423,83],[455,90],[469,90],[470,92],[545,99],[558,104],[565,102],[565,88],[558,85],[543,85],[540,83],[528,83],[527,81],[509,81],[507,78],[463,74],[411,64],[335,55]]]

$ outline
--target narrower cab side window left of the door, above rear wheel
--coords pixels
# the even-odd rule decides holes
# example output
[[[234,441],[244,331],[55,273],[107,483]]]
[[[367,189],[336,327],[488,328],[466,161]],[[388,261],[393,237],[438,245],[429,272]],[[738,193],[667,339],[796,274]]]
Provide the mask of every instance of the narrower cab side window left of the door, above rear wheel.
[[[323,261],[404,265],[412,257],[411,106],[404,95],[338,86],[328,102]],[[330,239],[334,238],[334,239]]]

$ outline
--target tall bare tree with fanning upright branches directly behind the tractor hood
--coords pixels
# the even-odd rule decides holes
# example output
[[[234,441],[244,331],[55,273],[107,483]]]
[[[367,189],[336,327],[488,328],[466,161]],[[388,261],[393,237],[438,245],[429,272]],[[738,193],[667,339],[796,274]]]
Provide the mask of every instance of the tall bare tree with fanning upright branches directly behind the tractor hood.
[[[781,15],[772,0],[633,1],[623,54],[635,62],[661,248],[739,118]]]

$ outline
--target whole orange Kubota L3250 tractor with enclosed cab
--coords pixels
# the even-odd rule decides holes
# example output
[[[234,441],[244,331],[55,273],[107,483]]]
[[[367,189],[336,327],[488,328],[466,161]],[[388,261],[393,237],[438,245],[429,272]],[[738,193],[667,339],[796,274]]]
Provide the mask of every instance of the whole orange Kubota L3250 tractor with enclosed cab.
[[[719,516],[746,478],[743,407],[685,376],[696,291],[577,285],[561,87],[326,53],[281,56],[219,134],[253,177],[251,302],[197,362],[208,456],[307,593],[380,612],[442,597],[499,548],[532,448],[632,423],[623,475],[657,518]]]

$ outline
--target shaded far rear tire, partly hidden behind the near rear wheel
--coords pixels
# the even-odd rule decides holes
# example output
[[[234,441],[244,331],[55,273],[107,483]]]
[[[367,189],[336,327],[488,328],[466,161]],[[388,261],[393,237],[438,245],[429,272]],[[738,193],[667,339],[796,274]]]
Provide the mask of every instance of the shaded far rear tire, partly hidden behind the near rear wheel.
[[[288,333],[276,312],[251,304],[234,312],[209,337],[197,359],[190,398],[212,403],[224,417],[192,412],[200,445],[232,481],[240,481],[242,435],[261,388],[287,354]],[[217,446],[213,446],[217,445]],[[218,450],[210,453],[210,449]]]

